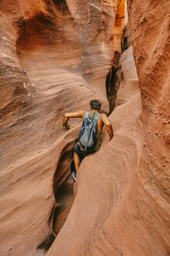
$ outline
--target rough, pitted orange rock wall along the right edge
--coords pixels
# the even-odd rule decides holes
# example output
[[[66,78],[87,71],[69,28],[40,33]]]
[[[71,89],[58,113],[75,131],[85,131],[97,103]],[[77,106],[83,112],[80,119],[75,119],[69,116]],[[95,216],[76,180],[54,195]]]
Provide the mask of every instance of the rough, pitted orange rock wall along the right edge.
[[[145,137],[138,175],[138,213],[150,255],[169,254],[169,3],[129,2],[131,41],[140,80]],[[142,10],[142,12],[141,12]]]

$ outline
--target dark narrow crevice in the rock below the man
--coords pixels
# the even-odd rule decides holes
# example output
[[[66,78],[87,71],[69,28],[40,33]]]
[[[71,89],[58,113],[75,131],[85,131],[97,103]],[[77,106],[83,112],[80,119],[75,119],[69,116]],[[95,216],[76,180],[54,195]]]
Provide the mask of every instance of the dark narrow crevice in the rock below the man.
[[[68,218],[71,206],[75,200],[75,182],[71,176],[71,170],[74,169],[73,148],[76,142],[77,139],[65,145],[58,158],[57,169],[54,173],[53,180],[55,202],[48,219],[51,232],[37,247],[37,249],[41,250],[41,253],[43,253],[41,255],[45,255],[51,244],[53,244],[57,234],[60,232],[64,222]]]

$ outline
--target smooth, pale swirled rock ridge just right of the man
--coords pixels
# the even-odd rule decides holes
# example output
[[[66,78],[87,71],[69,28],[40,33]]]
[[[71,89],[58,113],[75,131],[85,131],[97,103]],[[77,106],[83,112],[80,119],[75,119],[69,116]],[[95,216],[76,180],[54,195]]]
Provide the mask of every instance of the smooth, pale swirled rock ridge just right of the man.
[[[57,251],[61,255],[131,255],[131,237],[123,229],[128,225],[127,198],[136,179],[144,135],[132,47],[123,52],[117,76],[120,90],[109,116],[115,137],[82,162],[75,202],[48,256]]]

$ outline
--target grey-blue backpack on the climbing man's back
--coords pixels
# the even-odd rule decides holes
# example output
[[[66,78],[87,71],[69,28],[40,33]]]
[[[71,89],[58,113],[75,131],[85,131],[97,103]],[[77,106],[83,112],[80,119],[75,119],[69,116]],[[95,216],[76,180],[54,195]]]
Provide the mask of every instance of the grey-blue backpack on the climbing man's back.
[[[85,112],[85,118],[79,135],[79,142],[85,150],[92,148],[96,143],[98,119],[99,114],[94,119],[89,119],[88,111]]]

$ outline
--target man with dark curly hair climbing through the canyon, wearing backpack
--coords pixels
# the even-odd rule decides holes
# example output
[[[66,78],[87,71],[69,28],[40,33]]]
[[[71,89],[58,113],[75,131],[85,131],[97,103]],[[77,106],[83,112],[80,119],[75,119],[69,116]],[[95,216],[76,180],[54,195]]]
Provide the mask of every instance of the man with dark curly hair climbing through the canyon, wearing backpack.
[[[99,114],[101,105],[102,104],[99,100],[92,100],[90,101],[90,111],[85,112],[84,110],[80,110],[77,112],[66,113],[64,115],[63,127],[65,130],[70,128],[68,125],[69,118],[79,117],[83,120],[79,141],[74,148],[73,158],[76,172],[78,172],[78,167],[83,158],[99,150],[102,128],[104,125],[106,126],[106,131],[109,133],[109,140],[113,138],[113,126],[108,117],[105,114]],[[74,180],[76,178],[76,172],[72,172]]]

